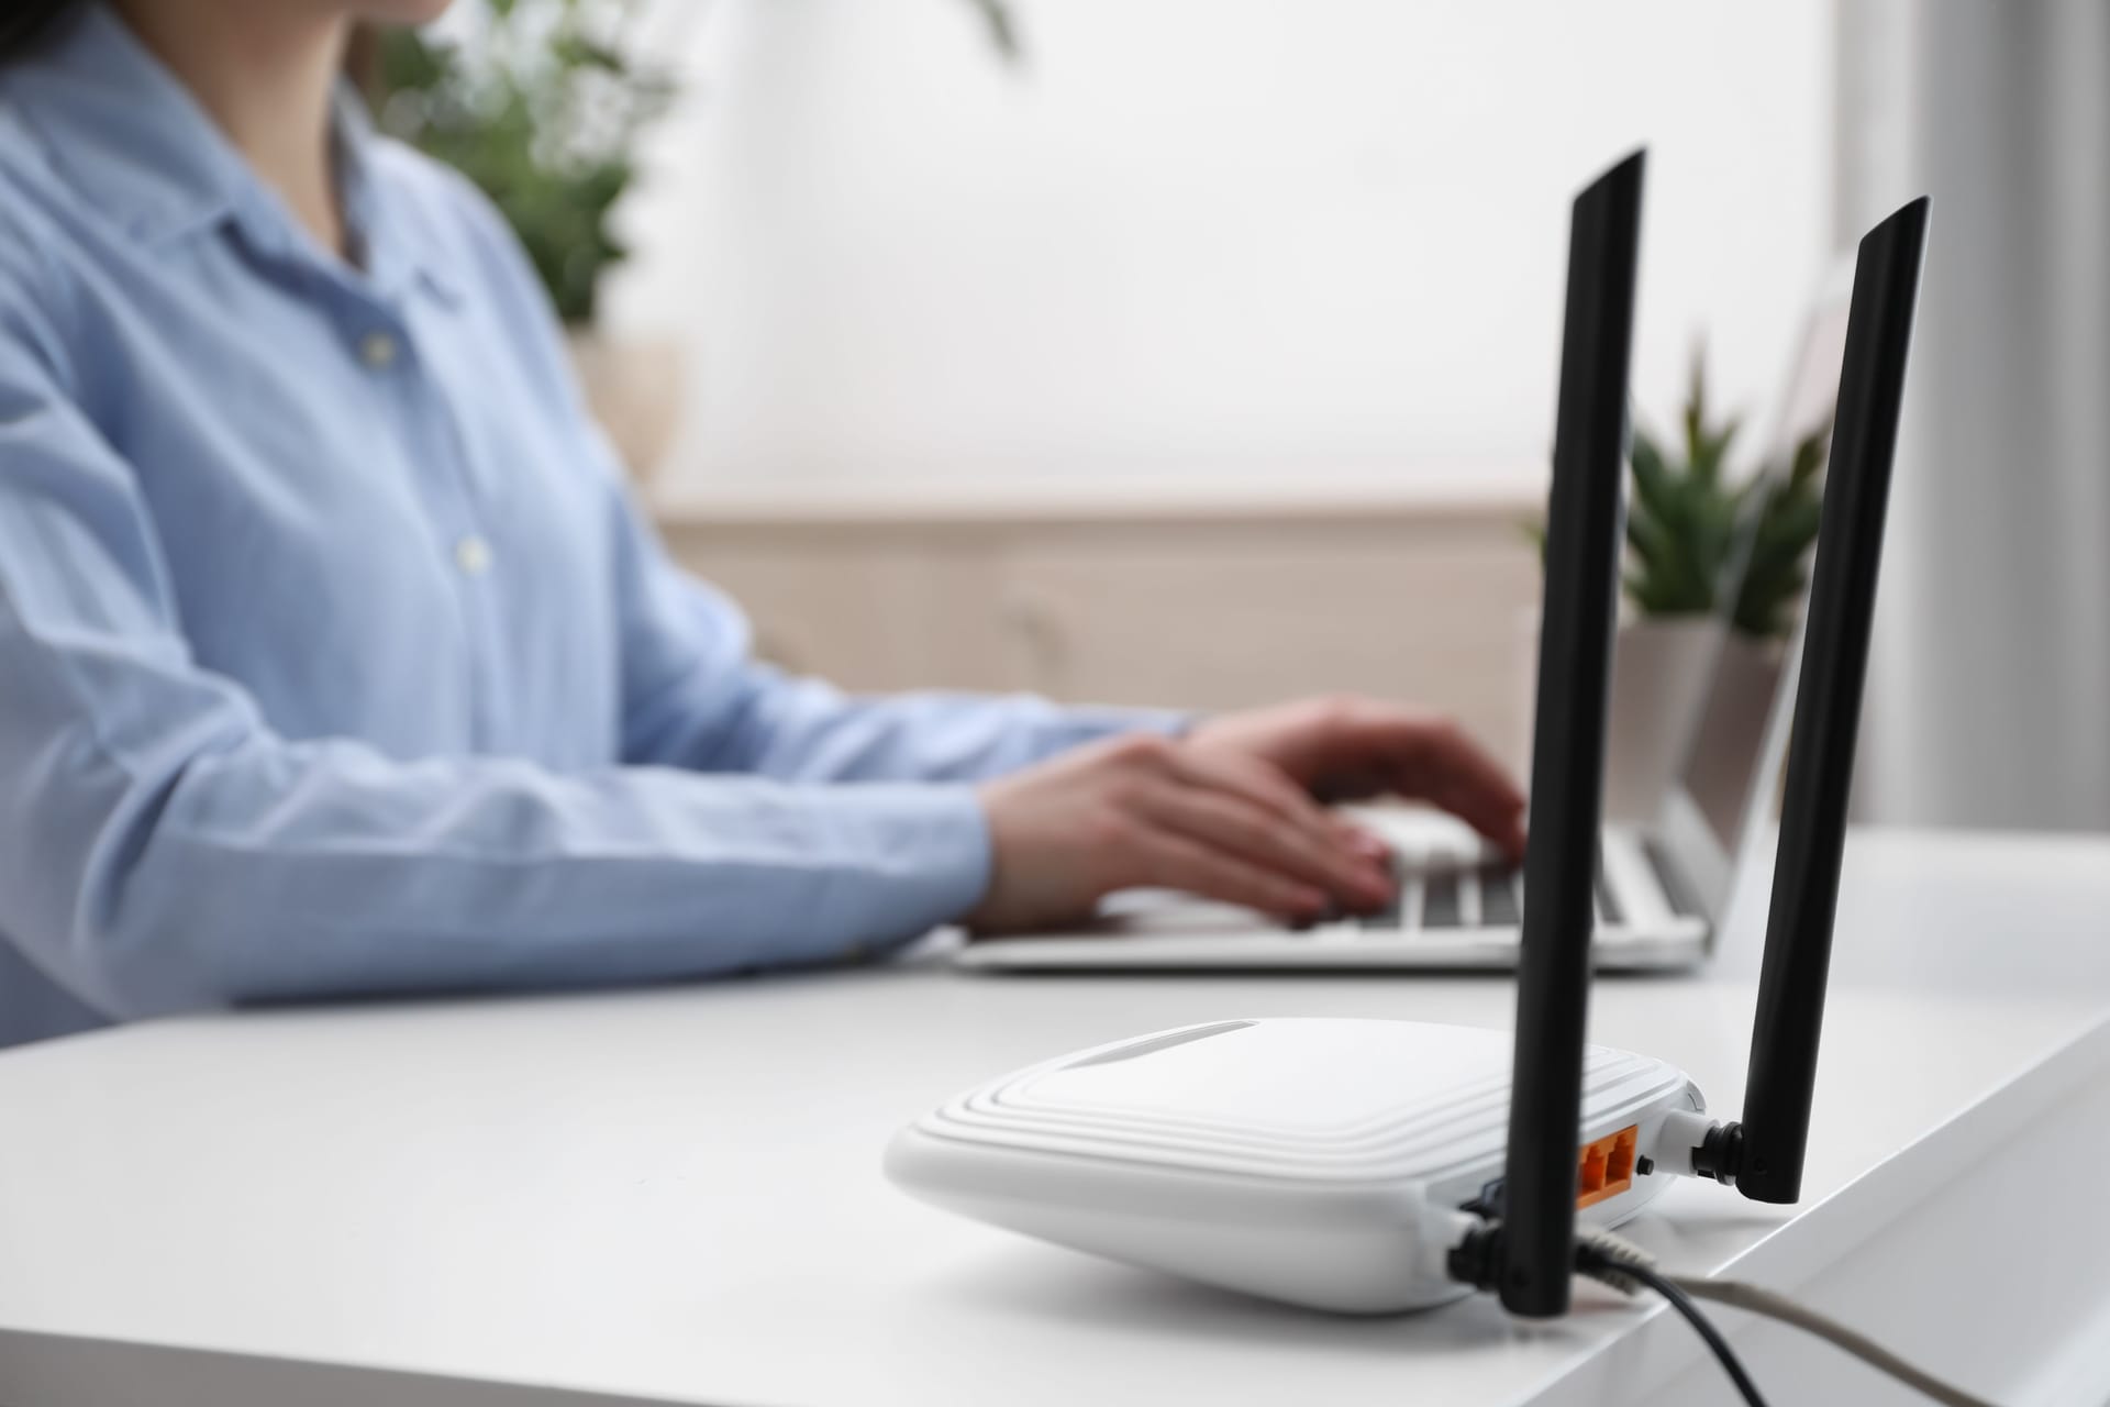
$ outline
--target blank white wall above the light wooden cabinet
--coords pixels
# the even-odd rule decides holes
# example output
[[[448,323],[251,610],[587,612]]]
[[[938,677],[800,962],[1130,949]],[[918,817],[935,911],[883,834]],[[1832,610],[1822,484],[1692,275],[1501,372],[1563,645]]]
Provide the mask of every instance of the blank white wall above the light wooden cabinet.
[[[1829,236],[1829,0],[717,0],[612,293],[682,473],[1536,466],[1566,203],[1648,141],[1635,388],[1762,403]]]

